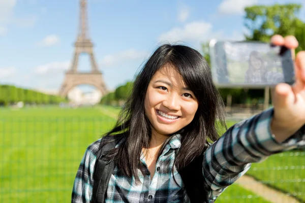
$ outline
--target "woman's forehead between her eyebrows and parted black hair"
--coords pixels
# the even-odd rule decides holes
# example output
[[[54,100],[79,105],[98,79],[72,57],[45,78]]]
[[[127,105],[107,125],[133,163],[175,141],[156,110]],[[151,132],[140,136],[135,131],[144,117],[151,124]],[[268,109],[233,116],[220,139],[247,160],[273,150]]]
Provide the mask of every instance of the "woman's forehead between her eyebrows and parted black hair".
[[[167,79],[173,85],[178,86],[186,86],[186,83],[183,77],[180,75],[179,72],[171,64],[166,64],[161,67],[151,79],[151,82],[157,81],[158,79]]]

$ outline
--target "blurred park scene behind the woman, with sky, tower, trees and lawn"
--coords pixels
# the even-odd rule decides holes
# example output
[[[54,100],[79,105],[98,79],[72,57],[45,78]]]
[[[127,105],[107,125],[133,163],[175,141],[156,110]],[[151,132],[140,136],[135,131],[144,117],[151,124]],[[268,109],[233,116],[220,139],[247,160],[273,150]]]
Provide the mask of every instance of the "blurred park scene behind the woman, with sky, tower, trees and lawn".
[[[68,202],[86,147],[115,123],[163,43],[209,62],[211,39],[305,50],[305,2],[0,0],[0,202]],[[228,126],[272,106],[269,87],[221,88]],[[305,151],[254,163],[216,202],[305,202]]]

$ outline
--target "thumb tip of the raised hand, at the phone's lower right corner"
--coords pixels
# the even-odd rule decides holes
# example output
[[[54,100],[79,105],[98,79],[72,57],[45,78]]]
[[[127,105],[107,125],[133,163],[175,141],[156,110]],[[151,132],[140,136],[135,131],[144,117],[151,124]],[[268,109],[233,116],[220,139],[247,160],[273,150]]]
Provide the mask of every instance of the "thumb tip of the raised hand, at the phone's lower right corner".
[[[277,108],[285,108],[294,102],[292,87],[286,83],[278,84],[273,95],[273,103]]]

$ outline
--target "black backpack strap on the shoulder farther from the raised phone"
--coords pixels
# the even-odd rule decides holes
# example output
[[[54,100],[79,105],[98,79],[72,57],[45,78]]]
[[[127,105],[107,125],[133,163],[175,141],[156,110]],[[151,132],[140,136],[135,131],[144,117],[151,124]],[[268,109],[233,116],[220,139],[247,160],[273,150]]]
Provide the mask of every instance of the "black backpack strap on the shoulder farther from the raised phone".
[[[92,203],[104,203],[108,183],[114,170],[114,161],[106,161],[105,153],[115,147],[114,140],[114,136],[101,139],[94,171]],[[105,144],[105,142],[107,143]]]

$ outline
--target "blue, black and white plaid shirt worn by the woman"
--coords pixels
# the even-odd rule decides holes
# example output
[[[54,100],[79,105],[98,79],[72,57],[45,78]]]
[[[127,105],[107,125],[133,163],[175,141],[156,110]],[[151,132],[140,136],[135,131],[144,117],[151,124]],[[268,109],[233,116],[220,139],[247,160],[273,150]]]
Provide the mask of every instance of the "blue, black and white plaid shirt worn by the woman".
[[[279,144],[270,132],[272,115],[273,109],[269,109],[235,124],[205,151],[202,172],[210,200],[215,200],[229,185],[245,174],[251,162],[259,162],[271,154],[305,146],[304,127]],[[91,199],[99,144],[100,140],[91,144],[81,160],[74,182],[72,202],[89,202]],[[142,156],[145,174],[138,171],[141,180],[138,185],[135,184],[134,178],[124,177],[115,167],[105,202],[189,202],[175,167],[172,175],[174,151],[179,147],[180,136],[177,134],[172,137],[159,157],[155,175],[151,180]]]

